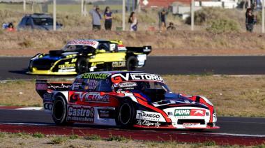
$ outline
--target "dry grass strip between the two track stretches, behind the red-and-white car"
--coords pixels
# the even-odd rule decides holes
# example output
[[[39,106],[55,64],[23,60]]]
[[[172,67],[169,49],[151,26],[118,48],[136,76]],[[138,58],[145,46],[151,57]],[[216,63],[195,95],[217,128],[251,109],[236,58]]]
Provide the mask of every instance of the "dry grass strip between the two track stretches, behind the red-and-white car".
[[[202,95],[218,116],[265,117],[265,76],[165,75],[174,92]],[[42,106],[33,81],[0,84],[0,105]]]

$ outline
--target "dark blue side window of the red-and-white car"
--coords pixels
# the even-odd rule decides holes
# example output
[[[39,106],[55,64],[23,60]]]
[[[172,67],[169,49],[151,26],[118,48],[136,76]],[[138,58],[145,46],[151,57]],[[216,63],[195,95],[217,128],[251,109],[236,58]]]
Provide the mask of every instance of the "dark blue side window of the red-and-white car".
[[[108,79],[82,79],[77,78],[72,85],[73,91],[112,91]]]

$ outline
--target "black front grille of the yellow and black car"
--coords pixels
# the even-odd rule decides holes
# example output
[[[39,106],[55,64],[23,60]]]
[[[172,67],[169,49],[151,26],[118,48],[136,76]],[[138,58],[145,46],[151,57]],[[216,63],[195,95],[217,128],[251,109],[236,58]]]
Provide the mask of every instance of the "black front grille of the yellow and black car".
[[[49,70],[52,67],[52,64],[54,64],[56,60],[51,59],[37,59],[35,61],[32,61],[32,67],[37,68],[38,70]]]

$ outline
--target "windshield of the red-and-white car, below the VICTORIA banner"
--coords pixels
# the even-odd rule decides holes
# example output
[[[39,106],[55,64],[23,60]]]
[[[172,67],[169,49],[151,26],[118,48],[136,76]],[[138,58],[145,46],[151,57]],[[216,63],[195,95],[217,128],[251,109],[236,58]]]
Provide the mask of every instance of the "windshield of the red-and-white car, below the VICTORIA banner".
[[[114,89],[116,91],[143,91],[144,89],[164,89],[166,92],[170,92],[165,83],[153,81],[121,82],[119,84],[114,84]]]

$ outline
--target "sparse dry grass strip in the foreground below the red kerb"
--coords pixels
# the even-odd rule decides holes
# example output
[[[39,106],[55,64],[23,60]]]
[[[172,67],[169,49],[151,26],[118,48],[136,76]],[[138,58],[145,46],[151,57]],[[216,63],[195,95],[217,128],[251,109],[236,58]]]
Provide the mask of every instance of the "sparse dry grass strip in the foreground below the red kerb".
[[[0,147],[159,147],[159,148],[195,148],[195,147],[233,147],[238,148],[242,146],[220,146],[215,142],[203,143],[181,143],[175,141],[169,142],[151,142],[130,140],[123,136],[112,136],[109,138],[100,138],[99,135],[43,135],[42,133],[0,133]],[[255,147],[263,148],[264,145],[257,145]]]

